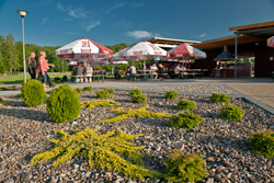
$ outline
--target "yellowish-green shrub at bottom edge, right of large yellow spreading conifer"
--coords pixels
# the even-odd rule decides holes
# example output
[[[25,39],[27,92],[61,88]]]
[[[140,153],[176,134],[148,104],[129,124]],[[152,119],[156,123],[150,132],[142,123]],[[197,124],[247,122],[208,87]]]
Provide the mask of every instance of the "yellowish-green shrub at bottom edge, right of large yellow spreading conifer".
[[[197,182],[206,176],[205,160],[196,153],[171,150],[164,165],[168,182]]]

